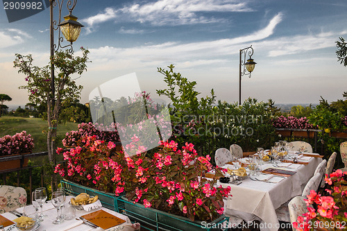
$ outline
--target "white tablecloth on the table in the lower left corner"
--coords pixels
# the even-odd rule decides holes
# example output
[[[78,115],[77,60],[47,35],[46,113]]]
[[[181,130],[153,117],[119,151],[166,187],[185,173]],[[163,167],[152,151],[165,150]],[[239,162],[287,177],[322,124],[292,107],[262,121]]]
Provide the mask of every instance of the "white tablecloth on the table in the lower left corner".
[[[66,201],[69,201],[71,198],[71,196],[67,196]],[[35,209],[33,208],[33,205],[29,205],[26,206],[26,213],[30,216],[30,214],[32,212],[35,212]],[[126,221],[126,223],[131,223],[130,219],[128,218],[128,216],[125,216],[124,214],[119,214],[115,211],[112,211],[108,208],[105,207],[101,207],[100,209],[103,209],[105,212],[108,212],[110,214],[113,214],[117,217],[119,217],[120,219],[123,219],[124,221]],[[23,209],[19,208],[17,209],[19,210],[19,212],[22,212]],[[99,209],[95,209],[92,210],[91,212],[95,212],[98,211]],[[42,221],[42,223],[40,223],[40,228],[37,231],[101,231],[103,230],[102,228],[97,228],[97,229],[93,229],[90,228],[90,226],[83,224],[83,221],[78,221],[76,219],[70,220],[70,221],[64,221],[58,225],[54,225],[52,223],[52,221],[56,220],[57,217],[57,209],[55,207],[53,207],[53,205],[51,203],[45,203],[44,204],[44,221]],[[90,212],[84,211],[84,210],[76,210],[76,218],[84,215],[84,214],[89,214]],[[2,216],[5,216],[7,219],[9,220],[14,220],[17,218],[17,216],[10,214],[9,212],[6,212],[4,214],[1,214]],[[124,225],[125,223],[121,224]],[[7,230],[17,230],[16,228],[11,229],[10,227],[6,228]]]

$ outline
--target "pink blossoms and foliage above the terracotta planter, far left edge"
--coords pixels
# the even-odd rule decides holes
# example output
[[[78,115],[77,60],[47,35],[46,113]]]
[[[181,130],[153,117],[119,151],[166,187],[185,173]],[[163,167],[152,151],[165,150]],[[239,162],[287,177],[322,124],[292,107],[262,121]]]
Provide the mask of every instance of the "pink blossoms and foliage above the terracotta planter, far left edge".
[[[0,138],[0,156],[31,153],[34,146],[34,139],[25,130],[13,136],[6,135]]]

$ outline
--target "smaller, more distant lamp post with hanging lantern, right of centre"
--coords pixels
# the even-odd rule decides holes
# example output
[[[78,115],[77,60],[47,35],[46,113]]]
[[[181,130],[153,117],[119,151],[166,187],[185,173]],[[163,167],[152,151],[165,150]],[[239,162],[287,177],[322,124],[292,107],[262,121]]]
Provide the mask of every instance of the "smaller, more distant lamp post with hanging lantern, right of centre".
[[[248,51],[249,50],[249,51]],[[248,53],[248,60],[246,60],[246,55]],[[242,76],[248,76],[251,78],[251,73],[254,70],[255,65],[257,64],[254,62],[252,55],[254,53],[253,47],[248,46],[244,49],[239,50],[239,105],[241,105],[241,79]],[[242,69],[243,66],[243,69]],[[247,73],[248,71],[248,73]]]

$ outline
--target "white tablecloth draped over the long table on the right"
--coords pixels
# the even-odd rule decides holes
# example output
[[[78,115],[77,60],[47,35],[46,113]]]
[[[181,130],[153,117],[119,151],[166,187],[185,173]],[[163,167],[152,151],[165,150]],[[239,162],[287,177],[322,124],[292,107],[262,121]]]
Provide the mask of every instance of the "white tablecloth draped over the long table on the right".
[[[279,223],[276,209],[294,196],[300,196],[307,181],[313,176],[316,166],[322,162],[321,158],[312,157],[307,165],[301,164],[293,176],[284,178],[278,183],[254,181],[250,178],[242,181],[241,185],[223,184],[230,186],[232,197],[226,200],[224,209],[226,215],[237,216],[244,221],[261,221],[260,230],[276,231]],[[274,168],[271,163],[263,165],[263,169]],[[290,167],[290,166],[289,166]]]

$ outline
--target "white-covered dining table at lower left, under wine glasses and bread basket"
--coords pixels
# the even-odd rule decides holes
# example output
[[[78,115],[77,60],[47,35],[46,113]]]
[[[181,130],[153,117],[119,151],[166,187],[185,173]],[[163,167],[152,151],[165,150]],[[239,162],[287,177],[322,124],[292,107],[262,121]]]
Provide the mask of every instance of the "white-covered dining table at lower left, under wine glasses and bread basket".
[[[66,203],[72,198],[72,196],[66,197]],[[65,204],[66,205],[66,204]],[[25,214],[27,214],[29,217],[32,217],[35,213],[35,208],[33,205],[26,205],[24,208],[20,207],[16,209],[16,212],[23,213],[23,209],[25,209]],[[43,205],[43,214],[44,214],[44,220],[40,222],[40,225],[37,229],[35,228],[35,231],[101,231],[103,228],[92,228],[89,225],[86,225],[83,223],[83,221],[80,219],[81,216],[90,214],[92,212],[103,210],[104,212],[107,212],[108,214],[112,214],[113,216],[117,216],[118,219],[124,220],[124,223],[121,223],[113,228],[108,228],[108,231],[112,230],[122,230],[125,228],[126,225],[131,225],[131,221],[128,218],[128,216],[124,214],[120,214],[118,212],[115,212],[111,209],[108,209],[106,207],[98,207],[96,209],[91,209],[90,211],[85,210],[79,210],[76,209],[76,218],[71,219],[69,221],[65,220],[60,224],[53,224],[52,222],[56,220],[57,217],[57,209],[56,207],[53,207],[52,203],[50,201],[46,201]],[[62,214],[64,214],[64,209],[62,209]],[[10,221],[13,221],[14,219],[17,219],[18,216],[15,214],[12,214],[10,212],[6,212],[4,214],[0,214],[1,216],[5,217],[6,219],[9,219]],[[101,225],[102,226],[102,225]],[[119,227],[118,227],[119,226]],[[121,227],[123,226],[123,227]],[[126,230],[126,229],[125,229]],[[5,227],[5,231],[17,231],[17,228],[15,228],[15,225],[8,225]]]

